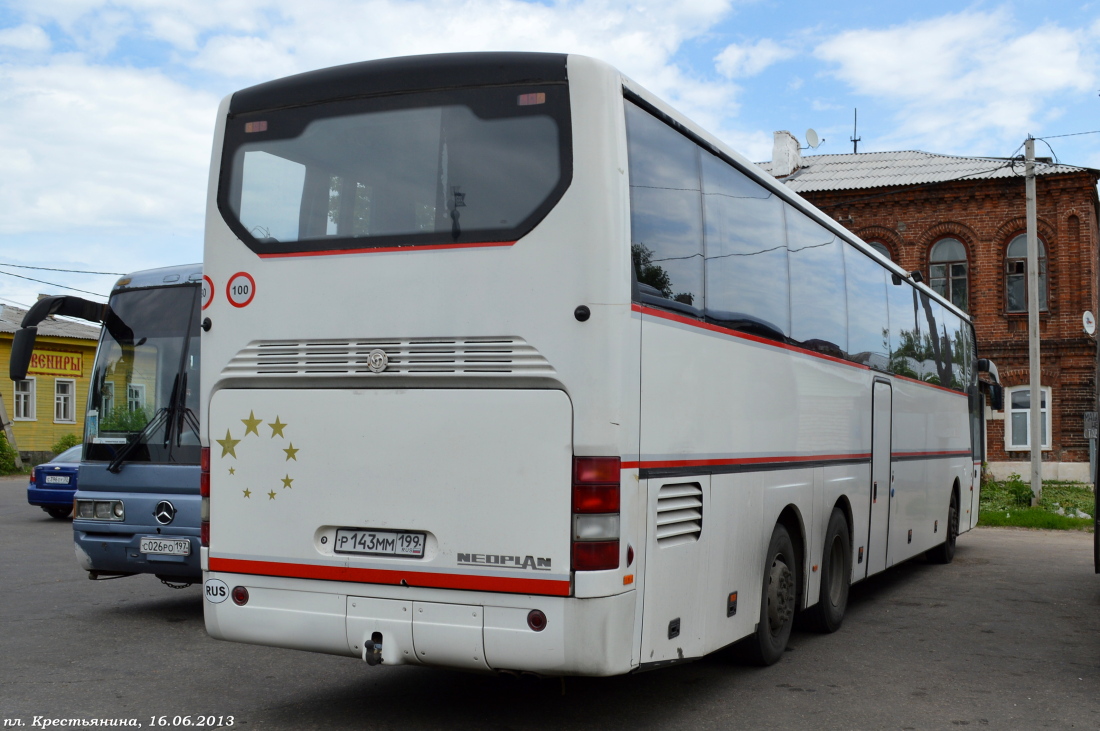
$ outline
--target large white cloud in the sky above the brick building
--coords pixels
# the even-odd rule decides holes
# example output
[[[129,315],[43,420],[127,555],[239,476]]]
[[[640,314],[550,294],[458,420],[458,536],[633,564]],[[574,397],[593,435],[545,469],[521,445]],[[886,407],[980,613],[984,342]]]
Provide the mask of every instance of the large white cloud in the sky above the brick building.
[[[815,54],[857,93],[894,108],[887,144],[992,154],[1037,132],[1052,99],[1096,88],[1094,47],[1088,31],[1047,24],[1021,32],[997,11],[846,31]]]

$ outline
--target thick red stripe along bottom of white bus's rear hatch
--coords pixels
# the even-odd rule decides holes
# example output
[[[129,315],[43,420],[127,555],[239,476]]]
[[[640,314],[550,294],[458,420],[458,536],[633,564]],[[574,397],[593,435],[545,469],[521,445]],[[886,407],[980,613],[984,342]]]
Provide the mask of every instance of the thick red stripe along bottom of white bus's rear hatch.
[[[469,589],[473,591],[503,591],[507,594],[538,594],[549,597],[568,597],[570,583],[561,579],[505,578],[499,576],[471,576],[433,572],[403,572],[389,568],[355,568],[353,566],[317,566],[286,564],[274,561],[245,561],[210,556],[210,571],[286,578],[317,578],[327,582],[355,582],[358,584],[388,584],[430,587],[433,589]]]

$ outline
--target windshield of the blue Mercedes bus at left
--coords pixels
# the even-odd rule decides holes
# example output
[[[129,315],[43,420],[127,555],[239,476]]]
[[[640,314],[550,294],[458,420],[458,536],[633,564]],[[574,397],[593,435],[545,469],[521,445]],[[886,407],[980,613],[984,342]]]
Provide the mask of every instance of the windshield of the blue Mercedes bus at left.
[[[199,288],[111,296],[91,377],[85,461],[199,459]]]

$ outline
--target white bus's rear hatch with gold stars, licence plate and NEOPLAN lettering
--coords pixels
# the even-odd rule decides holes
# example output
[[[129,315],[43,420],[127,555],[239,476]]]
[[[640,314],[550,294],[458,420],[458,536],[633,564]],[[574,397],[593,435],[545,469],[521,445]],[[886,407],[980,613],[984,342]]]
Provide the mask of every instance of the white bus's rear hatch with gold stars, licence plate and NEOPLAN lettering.
[[[209,413],[211,571],[569,594],[564,392],[222,389]]]

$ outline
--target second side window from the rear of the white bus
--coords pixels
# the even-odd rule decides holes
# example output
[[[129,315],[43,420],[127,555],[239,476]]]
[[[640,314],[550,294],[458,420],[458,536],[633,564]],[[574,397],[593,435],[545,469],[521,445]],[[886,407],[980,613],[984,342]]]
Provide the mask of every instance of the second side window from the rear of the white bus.
[[[703,154],[706,315],[729,328],[790,335],[783,203],[763,186]]]

